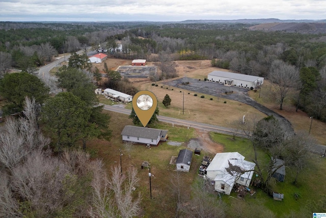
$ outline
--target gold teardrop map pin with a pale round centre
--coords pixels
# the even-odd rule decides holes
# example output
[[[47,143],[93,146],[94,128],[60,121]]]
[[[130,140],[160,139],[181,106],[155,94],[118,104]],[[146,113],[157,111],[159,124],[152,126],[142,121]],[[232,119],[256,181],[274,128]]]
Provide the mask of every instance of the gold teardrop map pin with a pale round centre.
[[[140,122],[146,127],[157,107],[155,94],[147,90],[137,92],[132,98],[132,107]]]

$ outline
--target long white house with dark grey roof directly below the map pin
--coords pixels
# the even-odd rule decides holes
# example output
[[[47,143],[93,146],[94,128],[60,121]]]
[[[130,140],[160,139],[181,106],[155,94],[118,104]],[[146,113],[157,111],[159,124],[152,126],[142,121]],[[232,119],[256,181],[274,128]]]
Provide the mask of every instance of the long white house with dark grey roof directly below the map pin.
[[[157,146],[159,141],[166,141],[168,130],[159,130],[145,127],[125,126],[121,132],[123,141],[151,144]]]

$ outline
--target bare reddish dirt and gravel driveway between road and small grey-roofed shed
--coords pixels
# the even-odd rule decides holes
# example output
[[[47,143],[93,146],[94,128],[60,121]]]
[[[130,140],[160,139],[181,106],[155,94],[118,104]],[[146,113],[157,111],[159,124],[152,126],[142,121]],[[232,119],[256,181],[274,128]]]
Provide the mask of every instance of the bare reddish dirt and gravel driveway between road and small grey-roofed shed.
[[[216,154],[221,153],[224,150],[224,147],[219,144],[215,143],[211,140],[208,131],[195,129],[197,138],[190,139],[186,146],[189,149],[195,150],[196,148],[200,148],[208,153]]]

